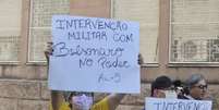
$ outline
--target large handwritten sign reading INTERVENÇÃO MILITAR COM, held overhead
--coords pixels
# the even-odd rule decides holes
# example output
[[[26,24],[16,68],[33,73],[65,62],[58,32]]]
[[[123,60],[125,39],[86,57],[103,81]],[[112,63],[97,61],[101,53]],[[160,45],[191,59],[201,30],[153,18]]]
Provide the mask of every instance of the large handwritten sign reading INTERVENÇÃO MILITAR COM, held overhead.
[[[56,90],[139,93],[139,25],[54,15],[49,87]]]

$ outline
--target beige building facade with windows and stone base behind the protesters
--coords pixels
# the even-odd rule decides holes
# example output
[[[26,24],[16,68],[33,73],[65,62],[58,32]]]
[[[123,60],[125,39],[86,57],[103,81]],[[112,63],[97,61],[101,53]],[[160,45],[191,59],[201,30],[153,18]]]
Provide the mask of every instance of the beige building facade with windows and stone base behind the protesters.
[[[161,74],[185,81],[203,74],[219,101],[218,0],[1,0],[0,110],[47,110],[46,42],[51,16],[71,14],[139,22],[141,95],[118,110],[141,110]]]

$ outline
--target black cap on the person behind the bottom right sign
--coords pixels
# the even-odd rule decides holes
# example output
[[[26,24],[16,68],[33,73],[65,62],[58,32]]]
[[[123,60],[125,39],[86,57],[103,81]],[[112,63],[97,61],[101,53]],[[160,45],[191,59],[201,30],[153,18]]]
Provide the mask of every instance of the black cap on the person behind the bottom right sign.
[[[150,96],[154,96],[155,89],[165,89],[171,86],[172,86],[172,81],[168,76],[161,75],[151,83]]]

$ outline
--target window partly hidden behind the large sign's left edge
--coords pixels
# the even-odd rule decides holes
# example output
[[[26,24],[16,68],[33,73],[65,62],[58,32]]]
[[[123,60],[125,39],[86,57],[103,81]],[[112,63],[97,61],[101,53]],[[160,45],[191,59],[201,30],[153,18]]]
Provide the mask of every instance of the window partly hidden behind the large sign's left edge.
[[[70,0],[31,0],[28,62],[45,61],[44,50],[51,37],[51,16],[69,13]]]

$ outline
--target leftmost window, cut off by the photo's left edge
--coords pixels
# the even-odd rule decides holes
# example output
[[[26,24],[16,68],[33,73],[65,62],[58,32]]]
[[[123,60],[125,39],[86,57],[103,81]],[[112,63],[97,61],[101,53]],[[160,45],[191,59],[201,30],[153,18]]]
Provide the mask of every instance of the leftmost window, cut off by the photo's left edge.
[[[22,0],[0,0],[0,61],[17,62]]]

